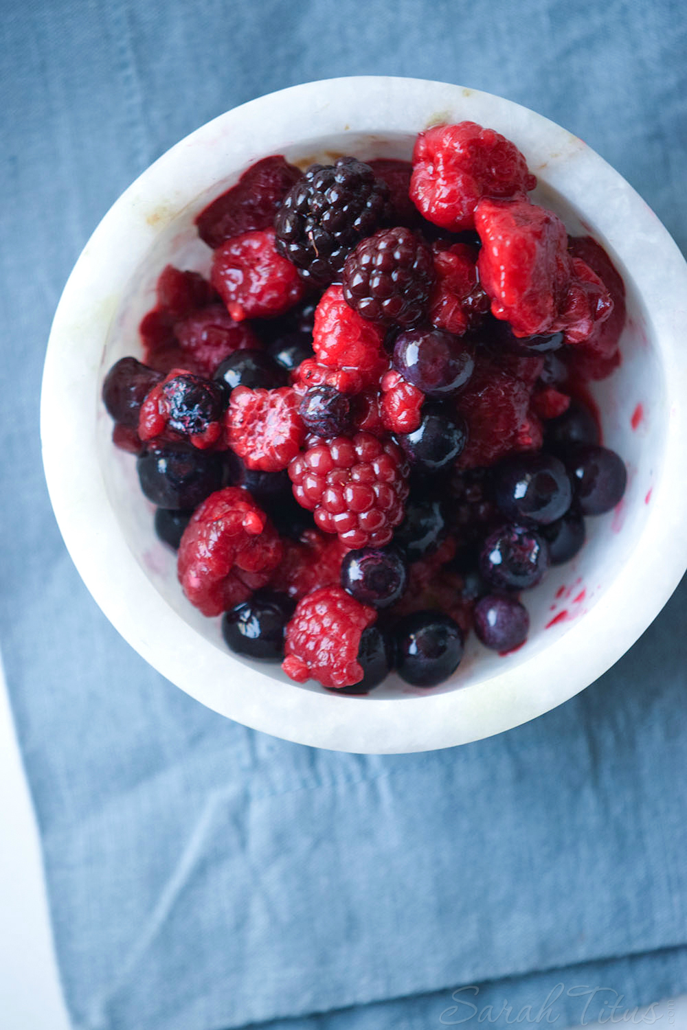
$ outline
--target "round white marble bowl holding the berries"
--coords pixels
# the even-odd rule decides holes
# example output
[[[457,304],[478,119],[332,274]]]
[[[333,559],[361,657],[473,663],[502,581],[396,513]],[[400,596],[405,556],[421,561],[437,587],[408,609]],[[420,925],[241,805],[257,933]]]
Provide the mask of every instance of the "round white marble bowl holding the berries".
[[[474,640],[432,691],[398,678],[369,697],[299,686],[225,648],[218,619],[187,604],[154,537],[134,458],[111,444],[100,392],[109,367],[140,355],[137,324],[162,268],[207,271],[194,218],[254,161],[408,158],[414,135],[466,118],[512,139],[569,231],[590,233],[624,277],[621,368],[594,389],[605,442],[627,464],[625,499],[589,519],[569,565],[527,594],[531,632],[500,657]],[[107,212],[65,286],[42,391],[43,460],[55,512],[93,596],[172,683],[277,736],[352,752],[444,748],[501,732],[561,703],[615,662],[687,565],[687,266],[645,202],[581,140],[499,97],[442,82],[360,77],[310,82],[228,111],[172,147]]]

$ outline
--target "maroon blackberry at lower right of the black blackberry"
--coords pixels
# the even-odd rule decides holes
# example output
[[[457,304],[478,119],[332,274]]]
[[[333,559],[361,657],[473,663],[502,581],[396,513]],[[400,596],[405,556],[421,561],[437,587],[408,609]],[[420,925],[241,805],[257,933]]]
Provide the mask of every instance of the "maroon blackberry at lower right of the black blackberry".
[[[420,321],[435,281],[432,250],[410,229],[380,229],[346,258],[343,295],[370,321],[408,328]]]

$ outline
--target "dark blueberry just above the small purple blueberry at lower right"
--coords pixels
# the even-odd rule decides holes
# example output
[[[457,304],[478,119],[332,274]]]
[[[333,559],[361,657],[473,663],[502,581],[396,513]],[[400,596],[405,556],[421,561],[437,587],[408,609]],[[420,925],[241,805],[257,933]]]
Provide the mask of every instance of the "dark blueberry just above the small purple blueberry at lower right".
[[[548,566],[546,541],[522,525],[504,525],[490,534],[480,554],[480,571],[497,589],[536,586]]]

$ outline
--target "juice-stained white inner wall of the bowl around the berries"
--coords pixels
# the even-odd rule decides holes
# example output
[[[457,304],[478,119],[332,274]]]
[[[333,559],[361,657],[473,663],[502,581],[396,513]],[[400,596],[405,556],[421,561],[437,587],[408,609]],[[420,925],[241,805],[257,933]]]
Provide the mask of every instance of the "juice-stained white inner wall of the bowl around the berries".
[[[364,160],[408,159],[413,138],[402,133],[346,132],[308,139],[284,148],[283,152],[288,161],[301,167],[314,161],[330,163],[342,153],[352,153]],[[665,446],[668,424],[665,381],[651,320],[631,275],[598,228],[584,219],[580,211],[547,185],[546,168],[536,164],[530,167],[540,183],[534,194],[535,201],[552,208],[572,235],[593,236],[609,251],[625,281],[627,321],[621,341],[622,364],[609,379],[592,384],[590,391],[602,413],[604,443],[623,457],[628,469],[628,486],[614,513],[587,520],[587,543],[577,558],[551,570],[539,587],[527,591],[525,604],[531,620],[527,643],[516,653],[502,657],[482,648],[471,636],[459,670],[451,680],[436,688],[435,693],[474,688],[503,673],[505,663],[514,668],[528,662],[592,611],[630,559],[651,509],[652,487],[660,472]],[[244,661],[229,654],[221,641],[219,619],[204,618],[186,602],[176,578],[175,555],[154,536],[154,509],[140,492],[135,460],[113,447],[111,421],[100,403],[103,378],[114,362],[128,354],[141,355],[138,323],[154,305],[156,281],[165,265],[171,263],[182,269],[208,273],[211,251],[199,240],[194,219],[210,200],[236,182],[244,170],[245,166],[231,169],[224,180],[199,194],[176,214],[154,237],[144,260],[133,271],[128,286],[121,294],[100,356],[93,398],[97,407],[96,447],[107,497],[122,535],[131,554],[167,605],[202,641],[226,654],[228,677],[235,676],[234,663],[241,661],[275,680],[285,680],[278,666]],[[298,690],[323,692],[314,683],[297,687],[286,682]],[[426,697],[426,691],[410,687],[392,676],[368,697],[350,700],[375,703],[382,699],[420,696]]]

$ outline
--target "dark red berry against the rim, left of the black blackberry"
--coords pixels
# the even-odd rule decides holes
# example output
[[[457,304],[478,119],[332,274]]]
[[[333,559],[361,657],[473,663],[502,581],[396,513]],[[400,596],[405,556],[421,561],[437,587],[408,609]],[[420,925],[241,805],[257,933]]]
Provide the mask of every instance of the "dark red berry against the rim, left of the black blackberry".
[[[198,235],[209,247],[256,229],[269,229],[301,170],[281,154],[263,158],[231,190],[216,197],[196,218]]]

